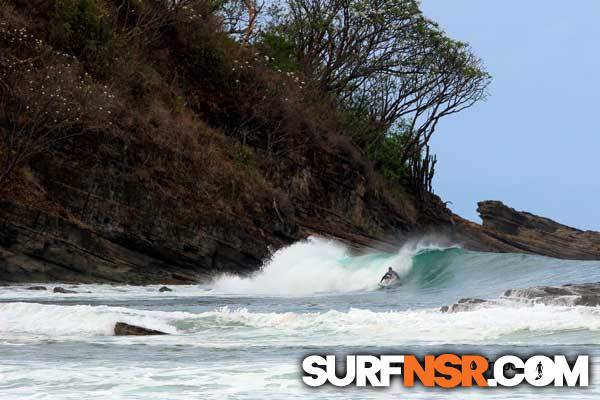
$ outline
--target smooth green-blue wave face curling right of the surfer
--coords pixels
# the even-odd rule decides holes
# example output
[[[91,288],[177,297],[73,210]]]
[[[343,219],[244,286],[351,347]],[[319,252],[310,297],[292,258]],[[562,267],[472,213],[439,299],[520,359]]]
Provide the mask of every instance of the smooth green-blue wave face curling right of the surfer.
[[[379,254],[368,268],[381,270],[397,255]],[[385,261],[381,261],[385,260]],[[394,289],[402,304],[438,306],[464,297],[493,299],[504,291],[539,285],[600,281],[600,262],[557,260],[523,254],[497,254],[461,248],[418,249],[403,284]]]

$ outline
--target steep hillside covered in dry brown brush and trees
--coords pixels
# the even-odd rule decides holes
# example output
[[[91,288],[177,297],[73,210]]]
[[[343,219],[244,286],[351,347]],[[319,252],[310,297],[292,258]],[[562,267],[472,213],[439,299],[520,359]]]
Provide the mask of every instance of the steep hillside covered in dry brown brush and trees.
[[[5,222],[37,210],[192,270],[447,223],[428,143],[485,98],[480,60],[416,1],[275,5],[1,0]]]

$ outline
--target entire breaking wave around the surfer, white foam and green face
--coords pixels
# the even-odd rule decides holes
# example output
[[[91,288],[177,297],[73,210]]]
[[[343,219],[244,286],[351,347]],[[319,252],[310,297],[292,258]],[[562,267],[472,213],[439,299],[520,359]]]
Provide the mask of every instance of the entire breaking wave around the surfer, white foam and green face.
[[[396,253],[353,255],[339,242],[311,237],[275,252],[250,277],[220,276],[209,295],[300,297],[365,292],[392,267],[402,277],[396,300],[444,305],[462,297],[497,298],[508,289],[600,280],[599,262],[467,251],[419,240]]]

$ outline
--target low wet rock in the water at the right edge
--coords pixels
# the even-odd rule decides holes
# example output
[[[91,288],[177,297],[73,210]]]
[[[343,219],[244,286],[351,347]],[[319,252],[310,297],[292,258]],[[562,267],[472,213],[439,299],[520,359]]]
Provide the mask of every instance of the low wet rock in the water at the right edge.
[[[504,297],[527,303],[595,307],[600,305],[600,283],[511,289]]]

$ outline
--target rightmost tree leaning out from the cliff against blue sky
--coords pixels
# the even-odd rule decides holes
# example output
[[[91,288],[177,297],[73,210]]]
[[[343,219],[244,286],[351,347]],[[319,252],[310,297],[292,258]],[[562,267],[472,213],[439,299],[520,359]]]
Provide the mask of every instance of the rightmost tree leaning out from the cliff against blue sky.
[[[350,99],[351,107],[368,108],[372,123],[402,132],[402,162],[425,149],[442,118],[485,99],[490,83],[469,47],[447,38],[429,45],[420,66],[418,72],[376,74]]]

